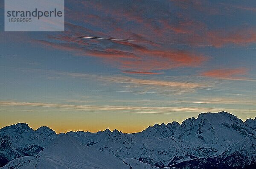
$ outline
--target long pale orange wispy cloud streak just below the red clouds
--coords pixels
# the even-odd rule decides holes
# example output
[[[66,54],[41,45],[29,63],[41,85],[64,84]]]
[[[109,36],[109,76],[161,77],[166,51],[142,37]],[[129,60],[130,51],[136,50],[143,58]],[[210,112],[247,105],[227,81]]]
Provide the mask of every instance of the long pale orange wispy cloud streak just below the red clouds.
[[[134,78],[130,76],[122,76],[122,75],[96,75],[96,74],[86,74],[86,73],[72,73],[72,72],[63,72],[63,71],[55,71],[55,70],[43,70],[43,69],[17,69],[19,71],[25,72],[37,72],[44,73],[44,76],[48,78],[78,78],[78,79],[90,79],[95,81],[103,81],[108,83],[116,83],[116,84],[124,84],[124,85],[132,85],[133,87],[141,87],[148,86],[154,87],[157,89],[165,88],[165,89],[197,89],[197,88],[205,88],[210,87],[209,84],[205,82],[189,82],[184,81],[180,78],[172,78],[172,81],[161,80],[161,79],[140,79]],[[140,91],[142,92],[142,91]]]

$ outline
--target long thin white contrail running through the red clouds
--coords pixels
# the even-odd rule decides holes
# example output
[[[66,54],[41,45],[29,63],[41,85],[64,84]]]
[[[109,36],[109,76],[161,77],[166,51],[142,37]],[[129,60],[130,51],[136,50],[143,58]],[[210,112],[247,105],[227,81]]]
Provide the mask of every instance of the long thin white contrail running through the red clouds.
[[[80,37],[80,36],[71,36],[77,38],[85,38],[85,39],[105,39],[105,40],[119,40],[119,41],[130,41],[130,42],[152,42],[152,43],[163,43],[163,44],[171,44],[171,45],[183,45],[183,46],[198,46],[198,47],[214,47],[218,48],[219,46],[215,45],[201,45],[201,44],[185,44],[185,43],[173,43],[173,42],[154,42],[154,41],[146,41],[146,40],[134,40],[134,39],[116,39],[116,38],[103,38],[103,37]],[[225,47],[225,48],[241,48],[241,47]],[[243,49],[256,49],[256,48],[243,48]]]

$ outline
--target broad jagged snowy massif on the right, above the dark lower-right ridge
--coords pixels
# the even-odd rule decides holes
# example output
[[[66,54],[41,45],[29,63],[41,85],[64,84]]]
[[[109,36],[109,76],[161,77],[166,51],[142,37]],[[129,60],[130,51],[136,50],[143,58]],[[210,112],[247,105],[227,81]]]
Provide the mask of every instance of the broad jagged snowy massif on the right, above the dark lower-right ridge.
[[[105,130],[97,133],[68,132],[67,135],[121,159],[135,158],[154,166],[213,158],[231,147],[239,148],[238,143],[245,138],[256,143],[255,130],[226,112],[201,113],[197,119],[189,118],[182,124],[155,124],[134,134]],[[256,157],[256,152],[250,157]],[[250,163],[254,160],[247,164]]]

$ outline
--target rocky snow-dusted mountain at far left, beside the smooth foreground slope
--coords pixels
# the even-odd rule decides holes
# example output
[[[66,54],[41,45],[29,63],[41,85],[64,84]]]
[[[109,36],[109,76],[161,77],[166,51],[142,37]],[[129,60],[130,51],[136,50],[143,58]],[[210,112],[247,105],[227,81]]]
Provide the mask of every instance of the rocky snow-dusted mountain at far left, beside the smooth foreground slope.
[[[48,127],[33,130],[24,123],[3,127],[0,129],[0,166],[15,158],[37,155],[57,137]]]

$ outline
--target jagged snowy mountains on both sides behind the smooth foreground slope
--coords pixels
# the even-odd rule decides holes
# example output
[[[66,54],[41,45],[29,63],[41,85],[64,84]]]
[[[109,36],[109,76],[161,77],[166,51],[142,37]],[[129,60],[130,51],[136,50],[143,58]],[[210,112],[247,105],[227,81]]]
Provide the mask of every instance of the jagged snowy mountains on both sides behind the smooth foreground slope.
[[[256,166],[255,121],[247,119],[243,122],[226,112],[201,113],[198,118],[186,119],[182,124],[155,124],[133,134],[107,129],[62,135],[90,149],[114,155],[133,169],[153,166],[246,168]],[[48,127],[38,130],[32,130],[27,124],[4,127],[0,130],[0,161],[5,164],[18,157],[35,155],[48,149],[58,137]]]

